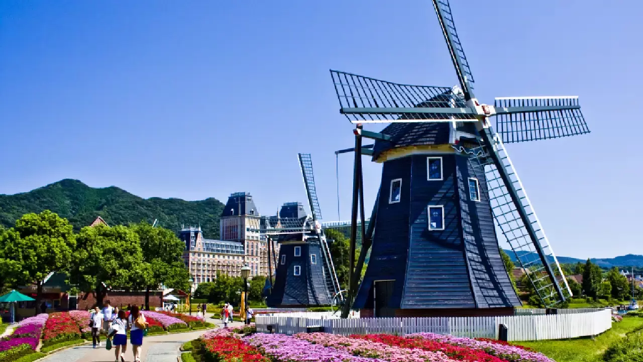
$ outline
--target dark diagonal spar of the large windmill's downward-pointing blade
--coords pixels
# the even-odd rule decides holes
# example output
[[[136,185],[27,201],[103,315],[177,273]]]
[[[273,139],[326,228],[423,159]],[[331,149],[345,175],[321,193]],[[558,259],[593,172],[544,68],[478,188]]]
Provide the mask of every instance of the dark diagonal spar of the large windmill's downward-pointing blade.
[[[561,298],[561,301],[565,301],[565,294],[563,294],[563,291],[561,290],[561,287],[556,280],[556,274],[554,274],[551,265],[549,265],[547,256],[545,256],[545,252],[543,252],[543,248],[538,241],[538,234],[536,234],[534,225],[530,222],[529,215],[527,215],[527,211],[525,211],[525,207],[523,207],[520,196],[518,196],[518,191],[516,190],[516,187],[514,187],[514,183],[512,182],[511,178],[509,178],[507,169],[498,156],[498,151],[496,151],[496,149],[494,148],[493,138],[489,133],[490,131],[491,128],[484,128],[482,129],[482,131],[480,131],[482,139],[489,148],[489,157],[491,157],[494,161],[494,164],[496,164],[496,169],[498,169],[498,173],[505,183],[505,187],[507,187],[507,193],[509,193],[509,196],[511,196],[511,200],[513,200],[514,205],[516,206],[516,211],[518,211],[518,214],[520,214],[520,219],[525,225],[525,229],[527,229],[529,238],[531,238],[532,242],[534,243],[534,249],[536,249],[536,252],[538,252],[538,256],[540,257],[543,266],[547,268],[547,272],[552,278],[552,284],[554,285],[558,296]],[[534,288],[537,288],[536,285],[534,285]]]

